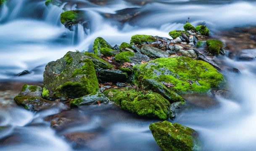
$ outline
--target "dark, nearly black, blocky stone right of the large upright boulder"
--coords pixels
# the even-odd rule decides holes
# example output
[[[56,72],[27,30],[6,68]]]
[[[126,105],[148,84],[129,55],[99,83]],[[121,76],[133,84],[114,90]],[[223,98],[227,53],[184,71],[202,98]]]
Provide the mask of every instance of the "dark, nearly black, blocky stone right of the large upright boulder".
[[[106,82],[125,82],[127,75],[121,70],[101,70],[98,77],[101,81]]]

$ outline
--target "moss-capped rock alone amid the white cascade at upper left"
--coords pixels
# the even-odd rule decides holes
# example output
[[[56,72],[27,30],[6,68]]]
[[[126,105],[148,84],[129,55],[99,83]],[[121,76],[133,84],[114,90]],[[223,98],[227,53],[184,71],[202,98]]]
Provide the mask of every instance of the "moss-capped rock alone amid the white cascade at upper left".
[[[74,30],[74,25],[82,22],[85,18],[82,10],[67,10],[61,13],[61,23],[69,30]]]

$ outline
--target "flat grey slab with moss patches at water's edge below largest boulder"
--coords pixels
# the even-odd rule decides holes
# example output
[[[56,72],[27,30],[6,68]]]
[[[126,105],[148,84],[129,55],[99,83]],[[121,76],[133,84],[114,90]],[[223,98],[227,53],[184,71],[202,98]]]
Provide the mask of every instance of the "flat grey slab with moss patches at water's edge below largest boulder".
[[[82,107],[83,105],[103,105],[108,104],[108,99],[100,91],[70,101],[70,107]]]

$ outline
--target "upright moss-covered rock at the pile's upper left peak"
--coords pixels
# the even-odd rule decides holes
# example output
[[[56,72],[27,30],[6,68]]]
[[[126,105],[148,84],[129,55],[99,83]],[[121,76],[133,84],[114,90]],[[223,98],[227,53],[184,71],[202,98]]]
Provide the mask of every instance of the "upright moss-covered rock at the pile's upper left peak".
[[[106,42],[105,39],[103,39],[102,37],[97,37],[93,42],[93,51],[95,55],[101,55],[100,49],[102,48],[113,49],[113,47],[110,44],[108,44],[108,42]]]

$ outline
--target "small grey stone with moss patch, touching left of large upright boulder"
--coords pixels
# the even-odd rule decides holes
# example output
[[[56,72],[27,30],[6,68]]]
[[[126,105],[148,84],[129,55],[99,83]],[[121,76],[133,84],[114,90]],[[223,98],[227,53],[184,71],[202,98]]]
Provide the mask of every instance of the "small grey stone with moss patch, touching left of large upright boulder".
[[[24,84],[21,88],[21,92],[18,95],[42,97],[42,88],[40,86],[29,86]]]

